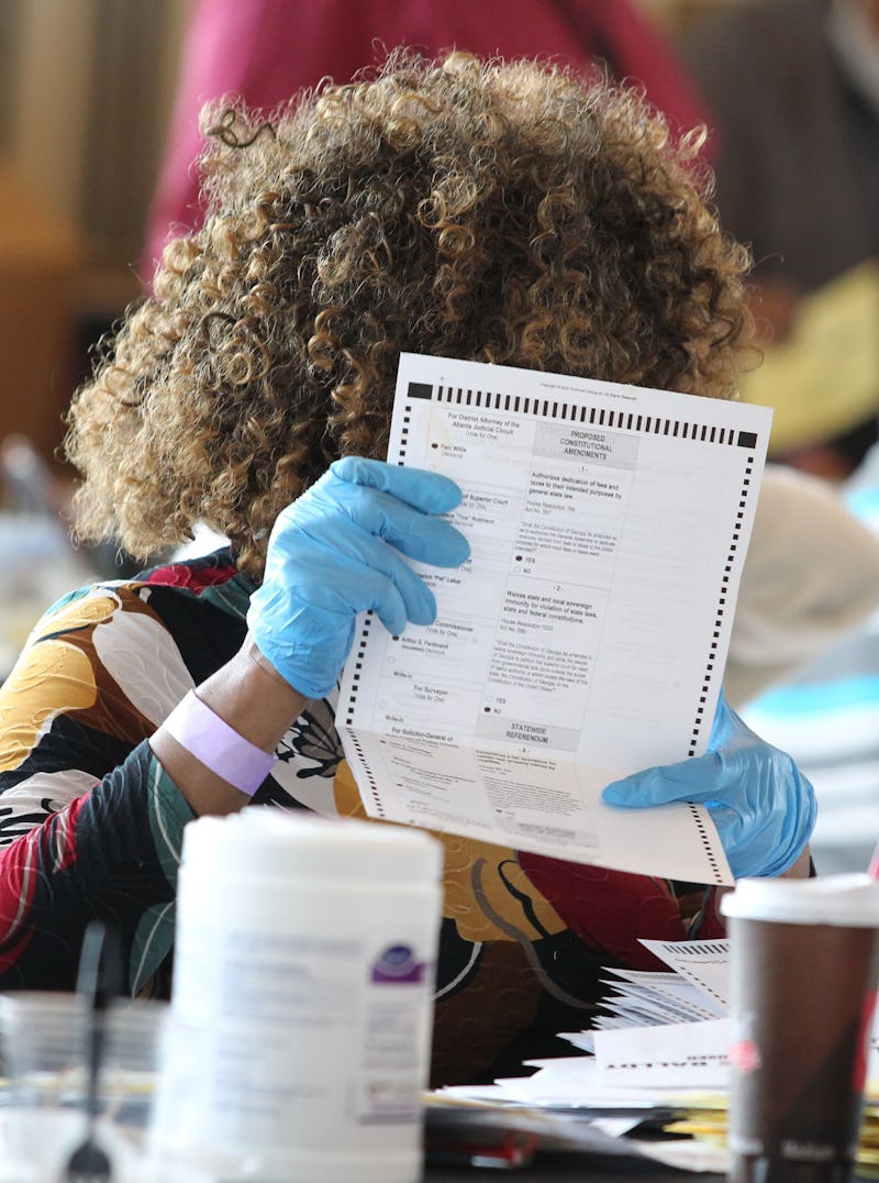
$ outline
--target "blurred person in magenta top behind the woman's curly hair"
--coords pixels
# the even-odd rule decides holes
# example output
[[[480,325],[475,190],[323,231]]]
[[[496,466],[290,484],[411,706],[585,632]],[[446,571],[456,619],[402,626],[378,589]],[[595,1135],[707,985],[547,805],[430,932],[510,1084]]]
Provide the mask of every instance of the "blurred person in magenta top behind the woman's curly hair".
[[[224,95],[271,111],[324,78],[343,83],[386,50],[428,57],[459,49],[480,57],[547,57],[586,75],[607,70],[644,86],[677,130],[704,122],[696,88],[635,0],[196,0],[187,27],[163,166],[149,211],[141,272],[153,274],[169,232],[202,215],[194,162],[199,111]]]

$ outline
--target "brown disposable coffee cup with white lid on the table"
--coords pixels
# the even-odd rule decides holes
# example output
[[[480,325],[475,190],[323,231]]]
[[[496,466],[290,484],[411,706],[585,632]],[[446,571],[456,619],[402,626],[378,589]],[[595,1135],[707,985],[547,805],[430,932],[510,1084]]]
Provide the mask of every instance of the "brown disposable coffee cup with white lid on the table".
[[[742,879],[730,937],[732,1183],[847,1183],[879,972],[879,881]]]

